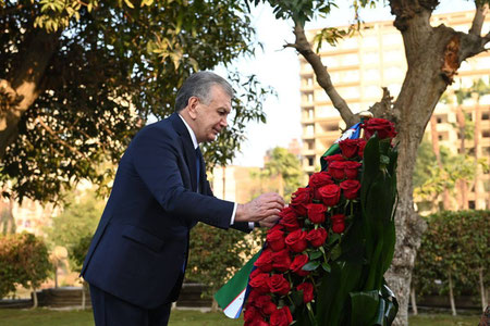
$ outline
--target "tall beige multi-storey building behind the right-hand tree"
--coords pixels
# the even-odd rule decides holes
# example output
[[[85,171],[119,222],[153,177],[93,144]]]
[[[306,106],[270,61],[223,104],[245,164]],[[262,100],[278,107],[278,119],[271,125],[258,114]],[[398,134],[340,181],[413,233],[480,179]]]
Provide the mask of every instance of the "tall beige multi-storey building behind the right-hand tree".
[[[467,32],[471,26],[474,12],[456,12],[433,15],[433,26],[445,24],[455,30]],[[490,17],[487,16],[483,30],[488,30]],[[341,27],[342,28],[342,27]],[[347,28],[347,27],[345,27]],[[318,30],[307,32],[313,39]],[[332,83],[338,92],[348,103],[354,113],[368,110],[379,101],[382,87],[396,98],[403,84],[407,68],[404,46],[400,32],[392,21],[366,23],[360,33],[341,40],[335,47],[324,42],[319,52],[323,64],[328,67]],[[311,66],[301,57],[301,93],[303,150],[302,165],[309,174],[319,171],[319,159],[323,152],[339,138],[345,124],[333,108],[324,90],[316,83]],[[482,52],[463,62],[455,76],[455,83],[448,88],[445,101],[436,106],[436,129],[440,146],[461,152],[461,135],[458,135],[458,110],[462,109],[467,118],[479,126],[477,148],[475,141],[465,141],[468,154],[477,153],[479,158],[490,156],[490,95],[473,96],[458,103],[455,92],[469,89],[478,79],[490,85],[490,53]],[[490,91],[489,91],[490,93]],[[478,116],[477,116],[478,113]],[[426,133],[430,139],[430,124]],[[482,191],[475,197],[470,185],[468,192],[469,208],[489,208],[490,174],[481,175]]]

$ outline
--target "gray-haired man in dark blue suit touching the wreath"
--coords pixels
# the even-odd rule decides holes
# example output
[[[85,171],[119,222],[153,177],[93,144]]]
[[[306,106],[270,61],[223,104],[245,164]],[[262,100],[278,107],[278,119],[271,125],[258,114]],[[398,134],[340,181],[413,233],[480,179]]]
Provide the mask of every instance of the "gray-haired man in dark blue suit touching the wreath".
[[[279,195],[236,204],[213,197],[206,179],[198,143],[226,127],[232,97],[226,80],[196,73],[179,90],[175,113],[130,143],[82,269],[97,326],[167,325],[197,222],[250,231],[279,218]]]

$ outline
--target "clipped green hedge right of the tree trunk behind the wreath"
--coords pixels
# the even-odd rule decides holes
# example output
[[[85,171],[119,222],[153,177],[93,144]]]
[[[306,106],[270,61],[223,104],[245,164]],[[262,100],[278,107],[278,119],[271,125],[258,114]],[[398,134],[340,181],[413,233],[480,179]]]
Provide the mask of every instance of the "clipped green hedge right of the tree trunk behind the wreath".
[[[490,211],[443,211],[427,222],[413,274],[417,293],[446,292],[449,273],[455,293],[478,293],[479,268],[488,288]]]

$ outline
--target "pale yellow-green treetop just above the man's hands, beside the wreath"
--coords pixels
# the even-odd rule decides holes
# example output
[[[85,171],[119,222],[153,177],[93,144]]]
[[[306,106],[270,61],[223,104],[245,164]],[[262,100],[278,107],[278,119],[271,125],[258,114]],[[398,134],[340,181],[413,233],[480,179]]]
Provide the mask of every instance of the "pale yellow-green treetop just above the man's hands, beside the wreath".
[[[278,191],[283,193],[286,202],[291,199],[291,193],[302,186],[304,175],[301,161],[285,148],[275,147],[269,152],[270,159],[264,168],[253,177],[258,177],[265,181],[265,191]],[[271,183],[273,180],[273,183]],[[282,187],[282,189],[281,189]]]

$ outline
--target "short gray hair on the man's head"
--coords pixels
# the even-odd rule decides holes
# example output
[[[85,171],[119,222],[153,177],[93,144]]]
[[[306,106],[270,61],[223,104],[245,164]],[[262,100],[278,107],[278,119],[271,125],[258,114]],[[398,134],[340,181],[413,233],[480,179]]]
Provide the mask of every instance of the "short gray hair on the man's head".
[[[181,89],[179,89],[175,99],[175,112],[181,112],[188,104],[188,99],[192,97],[197,97],[205,104],[208,104],[210,99],[211,86],[218,85],[231,97],[233,98],[234,91],[230,83],[224,78],[218,76],[211,72],[198,72],[192,74],[187,79],[185,79]]]

